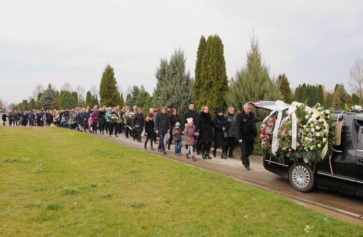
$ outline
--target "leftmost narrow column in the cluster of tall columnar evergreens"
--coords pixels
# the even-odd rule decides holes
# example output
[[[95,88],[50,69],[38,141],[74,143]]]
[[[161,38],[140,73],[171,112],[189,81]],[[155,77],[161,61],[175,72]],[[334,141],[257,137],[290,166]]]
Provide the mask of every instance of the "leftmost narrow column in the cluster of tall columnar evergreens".
[[[211,37],[211,36],[209,36]],[[202,88],[203,88],[203,81],[201,79],[201,71],[202,71],[202,61],[204,57],[204,53],[207,49],[207,41],[205,40],[205,37],[202,35],[199,40],[199,46],[197,51],[197,60],[195,62],[195,79],[193,81],[193,92],[194,92],[194,98],[195,101],[201,101],[201,94],[202,94]],[[198,104],[199,108],[203,105],[201,103]]]

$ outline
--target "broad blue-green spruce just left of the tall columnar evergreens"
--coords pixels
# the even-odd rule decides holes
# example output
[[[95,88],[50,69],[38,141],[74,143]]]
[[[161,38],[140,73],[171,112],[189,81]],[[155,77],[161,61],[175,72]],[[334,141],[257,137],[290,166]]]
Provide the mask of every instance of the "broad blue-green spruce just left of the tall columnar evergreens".
[[[184,51],[180,48],[174,50],[169,62],[167,59],[160,61],[160,66],[156,69],[157,83],[152,96],[152,103],[156,108],[172,105],[181,115],[188,109],[193,91],[185,61]]]

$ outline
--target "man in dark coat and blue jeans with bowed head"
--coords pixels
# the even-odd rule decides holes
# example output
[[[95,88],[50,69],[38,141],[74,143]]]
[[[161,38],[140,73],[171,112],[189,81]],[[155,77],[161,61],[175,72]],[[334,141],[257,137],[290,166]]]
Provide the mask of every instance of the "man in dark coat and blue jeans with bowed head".
[[[164,106],[161,111],[156,113],[154,130],[156,134],[159,134],[159,146],[158,151],[166,154],[164,145],[164,135],[171,130],[171,124],[169,119],[169,113],[167,113],[168,107]]]

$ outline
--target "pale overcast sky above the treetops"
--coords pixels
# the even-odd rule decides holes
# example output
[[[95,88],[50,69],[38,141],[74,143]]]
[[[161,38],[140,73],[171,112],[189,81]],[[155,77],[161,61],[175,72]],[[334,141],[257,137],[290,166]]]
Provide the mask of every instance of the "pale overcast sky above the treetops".
[[[107,63],[123,89],[152,94],[160,57],[181,47],[194,76],[201,35],[218,34],[227,76],[245,64],[254,29],[272,75],[290,87],[344,83],[363,57],[363,1],[2,1],[0,98],[19,103],[36,84],[99,87]]]

